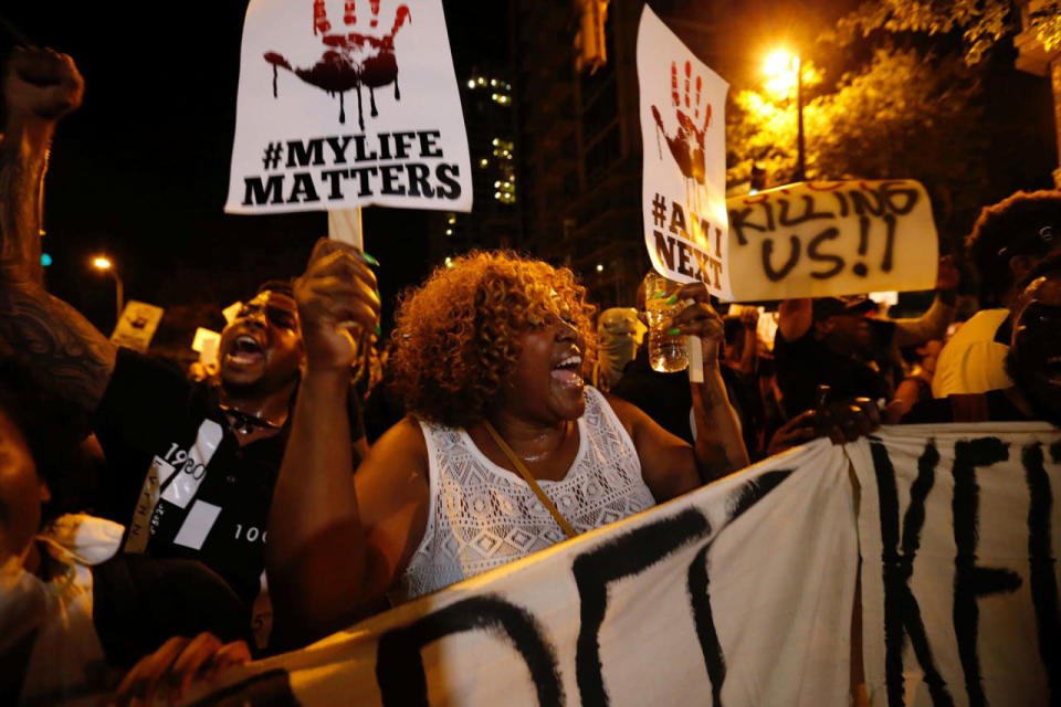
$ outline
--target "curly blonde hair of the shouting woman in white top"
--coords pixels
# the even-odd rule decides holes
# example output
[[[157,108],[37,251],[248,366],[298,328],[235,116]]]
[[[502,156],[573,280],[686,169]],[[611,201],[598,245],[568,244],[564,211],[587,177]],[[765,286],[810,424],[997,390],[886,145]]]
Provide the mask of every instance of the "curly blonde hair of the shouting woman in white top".
[[[486,416],[516,367],[521,337],[554,318],[585,337],[592,370],[596,308],[566,267],[512,251],[473,251],[400,297],[390,366],[419,418],[468,428]]]

